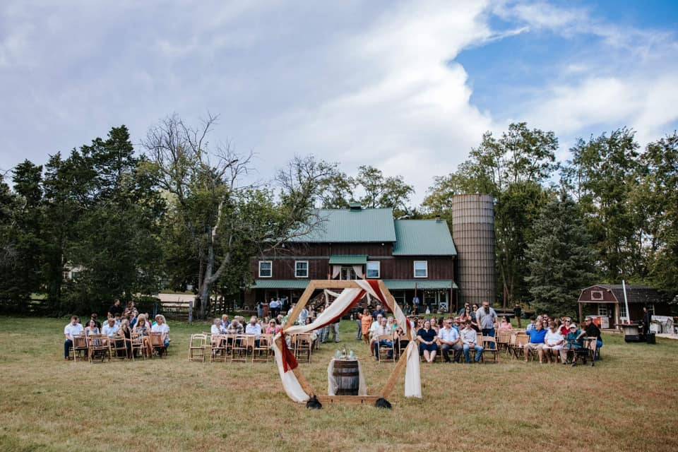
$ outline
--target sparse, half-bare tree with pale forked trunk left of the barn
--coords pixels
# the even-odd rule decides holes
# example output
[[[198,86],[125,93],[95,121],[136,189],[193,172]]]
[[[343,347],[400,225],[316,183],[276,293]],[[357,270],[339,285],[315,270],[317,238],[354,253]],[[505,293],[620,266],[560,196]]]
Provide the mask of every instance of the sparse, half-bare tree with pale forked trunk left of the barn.
[[[320,221],[314,206],[335,165],[295,158],[276,178],[276,191],[245,184],[251,155],[230,145],[211,146],[208,136],[217,118],[197,127],[176,115],[148,131],[148,150],[157,185],[172,202],[172,217],[183,223],[181,246],[198,262],[196,314],[205,317],[213,287],[230,271],[234,258],[251,249],[275,249]]]

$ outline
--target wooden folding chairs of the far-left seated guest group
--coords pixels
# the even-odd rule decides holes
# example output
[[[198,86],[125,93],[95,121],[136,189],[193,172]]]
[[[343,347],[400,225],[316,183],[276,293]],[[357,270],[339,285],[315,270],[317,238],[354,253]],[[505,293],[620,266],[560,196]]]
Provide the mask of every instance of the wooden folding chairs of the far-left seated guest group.
[[[162,357],[167,355],[167,348],[162,340],[162,333],[150,333],[147,336],[154,352]],[[143,359],[150,358],[148,350],[143,344],[144,337],[138,333],[132,333],[131,339],[114,337],[109,338],[105,334],[90,334],[90,335],[74,335],[73,347],[71,348],[71,359],[73,362],[85,361],[95,362],[101,359],[105,361],[111,358],[127,359],[128,358],[128,343],[131,351],[131,359],[141,357]]]

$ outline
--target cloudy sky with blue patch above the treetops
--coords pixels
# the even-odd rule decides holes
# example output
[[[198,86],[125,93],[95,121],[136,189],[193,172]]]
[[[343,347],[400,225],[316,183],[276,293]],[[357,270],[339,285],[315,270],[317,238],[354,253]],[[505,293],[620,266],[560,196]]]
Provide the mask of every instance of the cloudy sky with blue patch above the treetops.
[[[511,121],[641,145],[678,126],[677,1],[0,4],[0,169],[176,112],[268,179],[313,153],[415,184]]]

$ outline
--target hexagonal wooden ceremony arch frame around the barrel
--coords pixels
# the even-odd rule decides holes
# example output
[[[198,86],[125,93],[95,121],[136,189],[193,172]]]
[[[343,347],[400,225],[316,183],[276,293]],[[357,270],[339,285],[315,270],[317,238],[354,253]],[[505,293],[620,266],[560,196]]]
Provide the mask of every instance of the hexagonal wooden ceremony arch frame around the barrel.
[[[381,290],[381,294],[383,295],[383,299],[379,300],[386,304],[388,309],[391,310],[391,312],[396,311],[396,306],[398,304],[396,303],[396,299],[393,298],[393,295],[391,295],[391,292],[389,292],[388,288],[386,285],[383,283],[382,280],[377,280],[376,283],[379,284],[379,289]],[[313,295],[313,292],[316,290],[324,290],[324,289],[362,289],[360,285],[358,285],[354,280],[311,280],[309,281],[309,285],[306,287],[306,290],[304,290],[304,293],[302,294],[302,297],[299,298],[299,301],[297,302],[297,305],[295,306],[295,309],[292,310],[292,313],[290,316],[287,317],[287,322],[285,323],[285,326],[283,326],[283,332],[287,330],[287,328],[290,328],[295,325],[295,322],[297,321],[297,318],[299,317],[299,314],[301,313],[302,309],[306,306],[306,304],[309,302],[309,299],[311,299],[311,296]],[[405,328],[406,334],[408,336],[408,340],[413,341],[415,340],[415,335],[413,333],[413,328]],[[283,344],[283,337],[279,337],[276,339],[276,344],[280,349],[282,349]],[[304,389],[304,392],[308,394],[309,397],[316,397],[318,400],[325,404],[325,403],[369,403],[370,405],[374,405],[377,399],[379,398],[388,398],[388,396],[391,395],[393,392],[393,389],[396,388],[396,383],[398,382],[398,377],[400,374],[403,373],[403,369],[405,369],[405,366],[407,365],[408,359],[407,359],[407,353],[401,353],[400,357],[398,358],[398,363],[396,364],[396,367],[393,369],[391,372],[391,376],[388,377],[388,380],[386,381],[386,385],[383,386],[381,391],[379,391],[379,394],[376,396],[324,396],[316,393],[314,388],[311,386],[311,383],[306,379],[304,374],[302,374],[301,369],[297,366],[295,369],[292,369],[292,372],[294,372],[295,376],[297,377],[297,381],[299,381],[299,384],[302,386]]]

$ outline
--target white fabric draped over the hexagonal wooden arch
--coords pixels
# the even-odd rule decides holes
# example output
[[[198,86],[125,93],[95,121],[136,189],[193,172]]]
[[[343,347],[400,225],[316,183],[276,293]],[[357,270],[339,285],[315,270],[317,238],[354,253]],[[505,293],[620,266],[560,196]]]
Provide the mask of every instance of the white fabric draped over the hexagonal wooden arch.
[[[350,307],[350,304],[362,292],[362,290],[366,291],[367,294],[371,295],[372,297],[379,299],[388,307],[391,307],[393,315],[396,317],[398,324],[408,325],[408,321],[405,317],[405,314],[403,313],[403,310],[400,309],[397,304],[391,306],[391,303],[387,302],[386,299],[383,299],[383,295],[381,295],[381,293],[377,294],[372,289],[368,281],[356,280],[355,282],[362,288],[350,288],[343,290],[343,292],[338,294],[339,296],[337,299],[335,299],[327,309],[325,309],[318,317],[316,317],[316,320],[313,323],[309,323],[308,325],[291,326],[284,331],[285,335],[309,333],[310,331],[320,328],[325,323],[332,321],[336,317],[340,316],[340,314],[342,314],[348,307]],[[295,402],[306,402],[309,400],[309,395],[304,392],[304,389],[297,380],[297,376],[295,376],[292,369],[285,371],[285,364],[283,364],[283,350],[280,350],[280,347],[278,347],[277,343],[280,336],[281,333],[278,333],[278,335],[275,336],[273,345],[271,347],[275,352],[275,363],[278,366],[278,373],[280,374],[280,380],[283,382],[283,388],[285,388],[285,393],[287,393],[287,396],[289,396]],[[407,367],[405,368],[405,397],[421,398],[422,384],[419,368],[419,353],[417,352],[417,344],[415,343],[411,328],[408,329],[408,338],[410,339],[410,343],[406,349],[406,359],[408,361]]]

